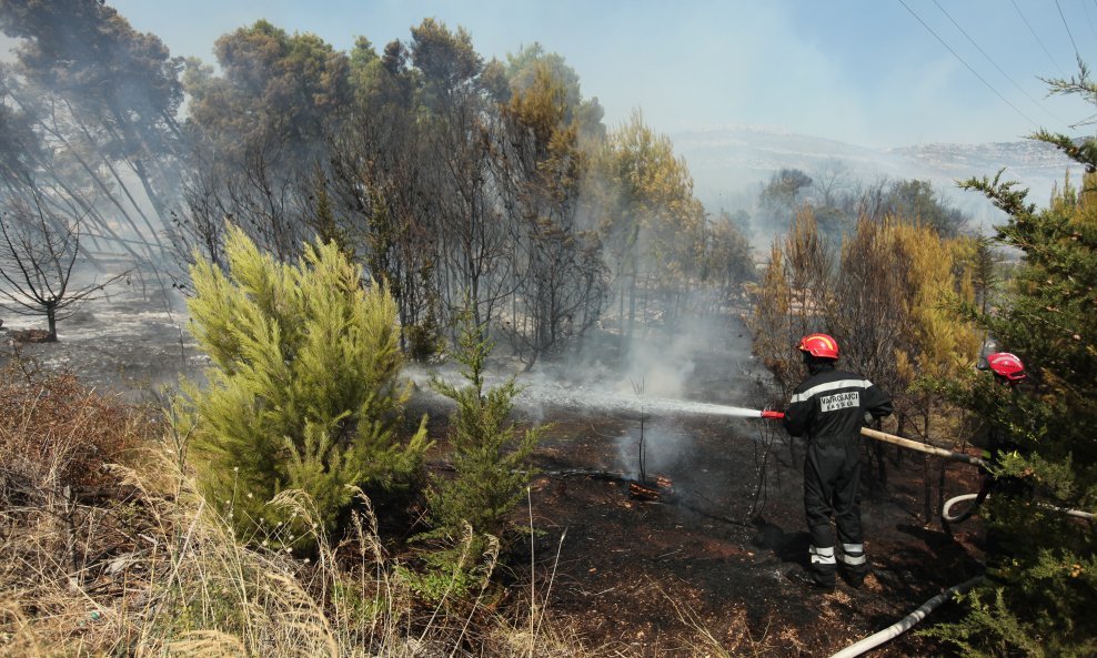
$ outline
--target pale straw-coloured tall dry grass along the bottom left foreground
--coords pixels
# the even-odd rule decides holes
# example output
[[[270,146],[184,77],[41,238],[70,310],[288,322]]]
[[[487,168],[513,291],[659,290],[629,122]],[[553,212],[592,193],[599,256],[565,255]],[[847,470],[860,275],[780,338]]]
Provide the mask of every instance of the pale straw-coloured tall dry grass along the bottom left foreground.
[[[299,492],[275,504],[321,527],[310,523],[314,510]],[[318,535],[308,558],[238,540],[189,480],[177,495],[150,495],[133,509],[132,523],[143,527],[131,550],[88,564],[83,579],[42,570],[33,597],[2,581],[11,604],[0,610],[0,656],[591,655],[577,642],[568,650],[540,613],[536,625],[507,621],[481,597],[424,607],[364,500],[352,535],[339,543]],[[49,553],[44,543],[21,550],[33,560]]]

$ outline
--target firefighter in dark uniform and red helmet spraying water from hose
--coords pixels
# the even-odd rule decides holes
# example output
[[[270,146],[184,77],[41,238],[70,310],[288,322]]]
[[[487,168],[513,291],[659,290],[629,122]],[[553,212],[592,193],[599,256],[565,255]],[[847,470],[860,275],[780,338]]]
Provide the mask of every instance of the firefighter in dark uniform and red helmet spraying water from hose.
[[[849,585],[859,587],[868,574],[861,529],[861,428],[866,418],[892,413],[892,399],[861,375],[835,368],[838,344],[826,334],[801,338],[799,351],[811,376],[796,387],[785,429],[807,438],[804,460],[804,510],[812,535],[807,571],[789,578],[819,589],[834,589],[838,566]],[[838,528],[838,544],[831,516]]]

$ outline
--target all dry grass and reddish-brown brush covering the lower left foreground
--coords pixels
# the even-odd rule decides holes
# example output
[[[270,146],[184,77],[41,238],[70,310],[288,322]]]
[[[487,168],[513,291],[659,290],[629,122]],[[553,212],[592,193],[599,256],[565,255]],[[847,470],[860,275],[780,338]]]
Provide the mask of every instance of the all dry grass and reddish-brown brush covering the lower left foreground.
[[[552,573],[499,605],[495,547],[471,556],[483,580],[463,598],[425,606],[364,496],[349,535],[318,535],[309,557],[249,547],[155,414],[19,371],[0,374],[0,657],[620,655],[553,622]],[[314,517],[294,492],[275,502]],[[697,634],[695,655],[735,652]]]

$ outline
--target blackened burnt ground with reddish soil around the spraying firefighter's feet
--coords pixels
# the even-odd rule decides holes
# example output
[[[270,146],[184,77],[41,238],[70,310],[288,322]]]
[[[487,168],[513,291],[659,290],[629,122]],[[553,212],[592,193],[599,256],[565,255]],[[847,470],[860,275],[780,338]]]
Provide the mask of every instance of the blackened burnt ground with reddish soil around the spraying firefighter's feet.
[[[698,360],[686,393],[718,388],[731,365]],[[749,405],[741,394],[727,402]],[[977,518],[946,529],[920,517],[920,453],[883,446],[877,459],[866,441],[862,517],[873,573],[861,587],[839,579],[823,593],[788,577],[806,566],[809,536],[803,448],[778,423],[551,402],[535,416],[553,426],[517,516],[527,524],[532,508],[539,534],[532,560],[529,546],[512,556],[512,587],[516,598],[529,596],[531,580],[535,593],[551,591],[548,617],[594,646],[692,656],[714,640],[731,655],[828,656],[983,571]],[[435,429],[443,436],[444,421]],[[945,482],[946,498],[979,486],[963,464],[949,463]],[[957,615],[945,605],[923,624]],[[872,655],[944,650],[908,631]]]

